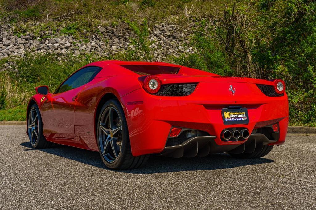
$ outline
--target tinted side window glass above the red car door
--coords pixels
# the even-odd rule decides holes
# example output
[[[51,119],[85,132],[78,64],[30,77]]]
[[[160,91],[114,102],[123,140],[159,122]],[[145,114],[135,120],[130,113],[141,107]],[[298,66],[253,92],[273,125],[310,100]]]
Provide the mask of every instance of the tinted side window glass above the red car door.
[[[70,76],[59,88],[56,93],[62,93],[80,87],[90,82],[101,70],[100,67],[85,67]]]

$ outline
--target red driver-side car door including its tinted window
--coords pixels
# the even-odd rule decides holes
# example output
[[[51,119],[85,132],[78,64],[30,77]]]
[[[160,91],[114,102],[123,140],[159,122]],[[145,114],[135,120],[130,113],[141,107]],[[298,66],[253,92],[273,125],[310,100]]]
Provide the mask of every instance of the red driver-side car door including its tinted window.
[[[74,111],[76,99],[82,89],[101,70],[100,67],[84,67],[68,79],[46,100],[42,106],[43,134],[53,138],[75,138]]]

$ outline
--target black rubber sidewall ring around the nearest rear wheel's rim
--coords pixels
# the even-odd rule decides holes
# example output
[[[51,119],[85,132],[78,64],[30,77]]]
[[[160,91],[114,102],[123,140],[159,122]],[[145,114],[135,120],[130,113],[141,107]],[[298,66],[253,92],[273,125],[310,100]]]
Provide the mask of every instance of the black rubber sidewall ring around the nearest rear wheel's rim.
[[[122,120],[122,122],[121,122],[121,126],[122,126],[122,146],[121,146],[121,151],[119,153],[119,157],[117,158],[117,160],[115,160],[112,163],[109,163],[109,162],[107,162],[104,159],[104,157],[102,155],[102,152],[101,152],[101,149],[100,149],[100,142],[99,142],[99,125],[100,125],[101,116],[102,116],[104,110],[107,107],[109,107],[109,106],[112,106],[113,108],[115,108],[118,111],[119,117]],[[123,111],[121,105],[119,104],[119,102],[117,100],[111,99],[111,100],[107,101],[103,105],[103,107],[101,108],[100,114],[98,116],[98,123],[97,123],[97,126],[96,126],[96,134],[97,134],[96,137],[97,137],[97,143],[98,143],[98,148],[99,148],[99,154],[101,156],[101,159],[102,159],[103,163],[108,168],[111,168],[111,169],[119,168],[124,162],[124,156],[126,154],[125,151],[126,151],[126,148],[127,148],[127,144],[129,144],[130,141],[129,141],[129,133],[128,133],[128,129],[127,129],[127,122],[126,122],[125,114],[124,114],[124,111]]]

